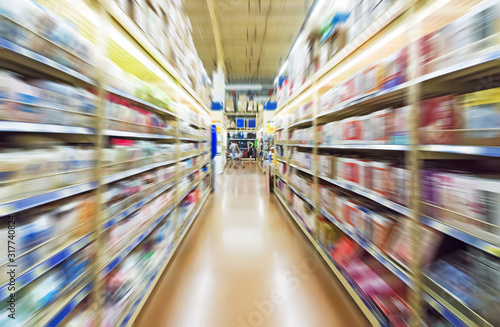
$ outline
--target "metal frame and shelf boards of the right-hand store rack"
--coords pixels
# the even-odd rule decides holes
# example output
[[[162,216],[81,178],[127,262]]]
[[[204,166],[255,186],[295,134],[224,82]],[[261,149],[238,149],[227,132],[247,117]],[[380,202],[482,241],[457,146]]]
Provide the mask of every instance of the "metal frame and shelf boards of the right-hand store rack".
[[[491,2],[489,3],[491,4]],[[454,15],[440,14],[447,5],[459,9]],[[279,137],[282,141],[276,140],[276,144],[284,149],[283,154],[280,154],[282,156],[277,158],[280,165],[276,167],[275,175],[278,177],[276,180],[285,182],[284,187],[286,190],[297,194],[304,202],[313,206],[316,217],[324,216],[344,235],[347,235],[353,241],[357,242],[368,254],[377,259],[409,288],[414,290],[407,299],[407,303],[414,312],[409,320],[411,326],[419,326],[421,322],[425,321],[425,308],[427,306],[434,308],[454,326],[490,326],[491,323],[487,322],[479,313],[474,312],[470,308],[462,308],[456,301],[456,298],[453,300],[454,296],[451,292],[443,289],[442,292],[444,295],[436,294],[432,289],[423,286],[429,277],[426,268],[424,268],[418,260],[412,261],[408,267],[403,267],[395,260],[392,260],[389,255],[365,240],[357,230],[337,220],[329,213],[328,208],[324,208],[321,205],[320,200],[322,194],[319,193],[320,185],[335,186],[339,188],[339,190],[348,191],[342,192],[342,194],[347,197],[352,196],[359,198],[359,196],[361,196],[373,201],[373,205],[380,207],[381,210],[384,210],[385,207],[395,213],[408,217],[411,221],[412,228],[412,234],[410,235],[412,252],[418,253],[419,250],[421,250],[419,246],[422,240],[419,238],[417,231],[419,228],[427,227],[434,232],[446,234],[467,245],[480,249],[485,253],[500,257],[500,244],[497,241],[493,241],[493,238],[487,238],[463,225],[457,225],[461,226],[457,227],[451,223],[448,224],[444,220],[422,215],[420,188],[423,186],[419,180],[423,169],[422,167],[424,167],[423,164],[427,159],[472,159],[498,164],[495,160],[499,160],[498,158],[500,158],[500,147],[489,146],[487,143],[477,146],[460,145],[459,143],[423,144],[418,137],[420,101],[456,92],[476,92],[478,86],[474,84],[474,80],[478,81],[481,76],[489,76],[489,72],[498,71],[498,69],[500,69],[500,48],[498,45],[484,48],[482,44],[478,42],[474,44],[474,46],[480,50],[474,52],[476,49],[474,48],[474,51],[471,50],[470,53],[467,53],[467,60],[454,61],[453,64],[448,67],[424,75],[420,75],[419,72],[416,71],[418,64],[413,65],[413,63],[409,62],[407,80],[404,83],[368,94],[354,96],[343,103],[331,106],[325,111],[320,111],[319,104],[322,103],[320,97],[332,87],[350,80],[352,76],[363,72],[365,68],[379,62],[384,56],[408,44],[417,44],[416,38],[420,38],[424,34],[419,35],[419,32],[410,33],[412,29],[418,31],[421,26],[426,26],[425,33],[430,33],[433,30],[437,30],[453,22],[453,20],[461,15],[474,11],[475,5],[478,5],[478,7],[483,5],[486,6],[488,2],[478,0],[465,4],[455,0],[428,2],[395,1],[392,7],[377,19],[372,26],[369,26],[358,37],[354,38],[350,44],[330,59],[323,68],[308,79],[302,87],[292,94],[292,96],[283,101],[275,113],[275,121],[283,122],[280,124],[280,127],[276,129],[281,132]],[[427,22],[429,25],[426,25]],[[415,24],[419,24],[419,26],[415,26]],[[498,33],[495,37],[498,38]],[[389,47],[389,44],[391,49],[394,50],[390,50],[391,52],[388,52],[389,50],[384,52],[386,50],[382,50],[382,48],[386,45]],[[374,49],[378,49],[377,51],[379,51],[380,54],[375,54]],[[462,50],[464,52],[469,52],[468,49]],[[418,58],[417,47],[410,46],[408,47],[408,51],[408,60]],[[467,81],[468,84],[464,81]],[[491,87],[494,87],[494,85]],[[481,89],[484,88],[485,85],[481,85]],[[312,114],[312,118],[309,118],[310,116],[307,119],[297,118],[294,111],[308,103],[311,104],[309,110]],[[318,136],[317,128],[320,125],[358,115],[369,114],[383,108],[401,107],[403,105],[410,106],[411,111],[409,118],[411,129],[409,131],[407,144],[347,144],[347,142],[340,144],[322,144],[322,140],[320,136]],[[293,131],[308,127],[313,128],[313,133],[309,134],[312,135],[312,139],[296,140],[294,135],[292,135]],[[297,150],[301,152],[307,151],[311,154],[313,159],[312,169],[304,169],[300,167],[300,164],[290,159],[291,152]],[[398,158],[397,162],[400,164],[404,163],[411,176],[411,196],[409,205],[404,206],[391,201],[357,184],[346,183],[335,178],[323,176],[319,167],[318,155],[336,155],[344,157],[363,155],[365,157],[375,157],[375,160],[377,157]],[[433,162],[436,163],[436,161]],[[285,165],[287,176],[280,173],[283,164]],[[293,183],[290,183],[290,179],[292,178],[290,171],[292,168],[309,175],[307,179],[312,180],[312,194],[306,196],[293,185]],[[277,187],[277,183],[278,182],[276,182],[274,189],[278,199],[282,202],[306,236],[311,240],[313,245],[315,245],[320,255],[323,256],[325,260],[330,260],[331,258],[325,255],[323,249],[316,246],[316,244],[318,244],[318,241],[315,239],[316,235],[303,226],[301,219],[295,215],[293,209],[290,208],[290,205],[284,199],[284,196]],[[498,228],[499,226],[495,225],[494,227]],[[448,240],[448,238],[446,240]],[[415,256],[412,256],[412,259],[415,259]],[[335,267],[335,263],[332,263],[332,266]],[[334,270],[334,274],[339,278],[340,273],[337,268],[332,268],[332,270]],[[359,296],[352,290],[353,286],[349,284],[348,279],[348,276],[339,278],[344,287],[353,296],[358,306],[365,312],[367,318],[369,320],[374,319],[375,314],[370,312],[368,308],[369,305],[359,300]],[[463,314],[463,312],[465,312],[465,314]],[[373,321],[370,320],[370,322],[372,324],[381,323],[381,321],[377,319]]]

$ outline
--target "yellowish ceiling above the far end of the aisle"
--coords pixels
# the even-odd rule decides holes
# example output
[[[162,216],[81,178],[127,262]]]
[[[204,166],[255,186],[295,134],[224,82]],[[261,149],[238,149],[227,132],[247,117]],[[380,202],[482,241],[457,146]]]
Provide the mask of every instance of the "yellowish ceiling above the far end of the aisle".
[[[229,83],[272,83],[313,0],[215,0]],[[185,0],[193,40],[206,71],[217,61],[206,0]]]

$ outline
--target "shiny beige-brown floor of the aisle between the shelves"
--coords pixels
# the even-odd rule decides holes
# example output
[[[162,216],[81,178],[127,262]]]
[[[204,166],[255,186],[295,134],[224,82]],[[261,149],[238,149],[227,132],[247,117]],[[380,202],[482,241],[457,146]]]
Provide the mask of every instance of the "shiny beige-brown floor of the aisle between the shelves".
[[[294,224],[255,164],[228,168],[135,325],[368,325]]]

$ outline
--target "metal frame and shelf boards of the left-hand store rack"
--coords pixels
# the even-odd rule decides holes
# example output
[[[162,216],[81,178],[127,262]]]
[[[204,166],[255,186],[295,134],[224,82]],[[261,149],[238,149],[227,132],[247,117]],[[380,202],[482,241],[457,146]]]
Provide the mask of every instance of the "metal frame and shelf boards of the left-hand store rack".
[[[64,81],[82,89],[91,89],[94,94],[97,94],[95,101],[97,107],[96,114],[95,117],[92,117],[91,126],[88,127],[82,127],[86,125],[68,126],[27,121],[0,121],[0,133],[43,134],[44,136],[57,138],[62,141],[71,140],[72,142],[76,141],[79,143],[91,144],[96,150],[95,159],[97,166],[89,169],[91,170],[90,174],[92,176],[92,178],[88,179],[90,180],[89,182],[80,182],[75,185],[53,190],[49,189],[40,194],[35,193],[35,195],[25,196],[16,200],[9,199],[4,202],[0,201],[0,217],[7,219],[7,216],[14,214],[15,216],[22,216],[26,210],[38,209],[45,205],[52,206],[53,204],[57,204],[57,201],[64,201],[62,203],[67,203],[73,199],[76,201],[76,199],[87,196],[92,196],[92,199],[95,199],[95,202],[90,202],[95,204],[88,204],[88,207],[86,207],[89,211],[96,213],[96,217],[84,222],[84,224],[90,226],[90,231],[76,238],[68,236],[70,233],[74,232],[74,230],[71,229],[66,233],[67,235],[62,234],[56,236],[38,245],[36,248],[31,249],[38,250],[50,242],[55,242],[55,239],[63,235],[64,237],[68,237],[67,243],[57,244],[46,256],[44,255],[37,258],[36,264],[25,271],[19,272],[16,278],[16,291],[24,290],[30,283],[37,282],[37,280],[49,275],[51,271],[58,269],[61,263],[71,260],[70,257],[74,257],[81,253],[82,249],[93,246],[96,251],[95,255],[89,259],[91,264],[88,270],[81,273],[79,276],[72,276],[74,279],[64,288],[60,296],[54,298],[49,305],[39,308],[27,321],[20,321],[19,323],[21,325],[58,326],[66,324],[73,311],[84,299],[89,297],[89,295],[92,295],[92,301],[102,303],[101,299],[104,295],[103,278],[112,272],[113,269],[116,269],[135,248],[142,244],[156,228],[162,226],[167,217],[169,217],[168,219],[173,219],[172,222],[176,230],[180,230],[182,226],[184,226],[184,229],[182,230],[182,234],[174,239],[168,253],[166,253],[165,257],[161,260],[161,267],[151,272],[151,277],[148,279],[147,283],[138,285],[140,292],[137,294],[134,302],[130,303],[130,311],[124,312],[124,315],[121,317],[116,317],[119,318],[117,321],[120,321],[121,325],[130,325],[133,323],[133,320],[139,313],[147,296],[150,294],[154,285],[168,265],[170,258],[176,252],[182,239],[186,236],[189,227],[194,222],[194,217],[199,214],[209,196],[209,192],[207,192],[205,188],[202,189],[200,178],[193,178],[189,175],[198,172],[199,175],[206,176],[211,170],[210,162],[204,161],[201,165],[190,168],[187,174],[182,175],[181,161],[208,153],[208,149],[206,147],[202,148],[202,146],[206,145],[205,143],[207,142],[208,134],[206,130],[209,129],[208,122],[210,121],[210,112],[207,104],[203,103],[198,94],[196,94],[188,83],[180,77],[181,74],[170,65],[160,51],[153,46],[146,35],[134,22],[132,22],[116,2],[112,0],[101,0],[93,3],[92,7],[89,7],[89,4],[80,0],[76,0],[68,6],[60,6],[60,4],[58,5],[55,2],[45,0],[37,2],[40,2],[42,6],[46,6],[48,11],[54,11],[59,15],[67,16],[70,20],[74,19],[78,31],[83,34],[84,37],[92,38],[94,36],[97,38],[92,41],[95,41],[96,47],[102,47],[99,49],[100,51],[97,51],[99,55],[105,54],[109,59],[114,61],[117,66],[131,70],[126,71],[126,73],[132,75],[136,75],[138,72],[141,73],[136,76],[137,79],[143,81],[147,80],[148,83],[161,89],[165,94],[168,94],[172,100],[172,105],[166,106],[165,108],[154,105],[109,85],[108,82],[110,82],[110,80],[105,74],[92,74],[92,77],[86,76],[30,49],[24,48],[11,41],[0,39],[0,60],[14,63],[12,67],[6,66],[14,72],[20,75],[33,72],[33,75],[37,77],[48,80]],[[90,16],[96,18],[95,21],[91,21],[88,17],[85,17],[85,14],[89,12],[92,12]],[[2,19],[3,18],[2,15]],[[106,29],[102,28],[103,26],[106,26]],[[109,34],[98,34],[95,33],[95,30],[106,30],[109,31]],[[117,37],[118,40],[112,40],[112,36]],[[117,45],[117,43],[122,44]],[[53,43],[50,43],[50,45],[57,46]],[[66,50],[58,48],[58,51]],[[105,64],[104,60],[98,60],[96,63],[98,66],[93,67],[96,71],[106,71],[106,67],[102,66]],[[141,69],[143,71],[140,71]],[[107,95],[113,95],[124,99],[134,106],[139,107],[141,110],[155,114],[169,123],[175,122],[172,125],[177,124],[178,126],[182,122],[188,122],[191,126],[194,126],[194,129],[192,129],[189,134],[181,134],[178,129],[168,129],[165,132],[159,131],[157,132],[158,134],[138,132],[147,131],[147,129],[142,128],[143,126],[132,126],[133,124],[128,122],[105,117],[105,99]],[[183,105],[182,110],[177,111],[177,104]],[[41,109],[43,108],[47,110],[55,109],[64,111],[60,108],[41,107]],[[130,127],[130,129],[128,129],[128,127],[117,128],[120,130],[107,128],[105,123],[111,120],[117,121],[123,126],[132,127]],[[140,127],[140,129],[137,129],[137,127]],[[168,158],[171,158],[170,160],[164,160],[167,157],[163,157],[163,160],[160,162],[149,160],[149,164],[140,167],[133,166],[137,168],[124,171],[114,170],[112,174],[104,175],[103,162],[105,162],[105,154],[102,150],[110,143],[107,141],[111,138],[128,139],[133,142],[149,141],[155,144],[169,144],[175,151],[171,156],[168,156]],[[181,146],[186,146],[186,144],[190,144],[193,150],[181,151]],[[139,160],[146,161],[152,158],[153,156]],[[133,163],[135,162],[132,162],[132,164]],[[129,162],[113,163],[112,165],[118,164],[128,165]],[[117,182],[129,178],[137,178],[140,174],[153,172],[159,168],[173,169],[172,177],[158,182],[158,184],[155,185],[156,188],[154,188],[154,191],[152,193],[147,193],[145,197],[135,194],[139,195],[135,197],[137,200],[133,201],[132,197],[128,198],[131,200],[130,202],[133,201],[133,203],[127,204],[126,208],[112,215],[110,214],[109,217],[104,217],[104,213],[108,208],[105,207],[103,194],[108,188],[116,185]],[[180,189],[180,187],[182,187],[180,185],[184,185],[179,183],[181,178],[194,180],[187,188]],[[203,185],[205,184],[206,183],[203,183]],[[205,187],[209,187],[209,185],[205,185]],[[203,199],[197,203],[195,207],[196,210],[193,211],[191,217],[188,218],[188,225],[186,227],[186,224],[181,225],[180,223],[181,217],[179,217],[178,209],[180,208],[180,202],[195,189],[198,189],[200,193],[204,195]],[[148,190],[151,191],[151,189]],[[172,191],[174,195],[172,200],[155,213],[151,220],[149,220],[147,226],[130,231],[124,239],[117,243],[119,245],[111,246],[110,250],[112,251],[110,251],[110,253],[113,253],[113,255],[108,256],[108,253],[106,253],[107,251],[102,250],[105,248],[103,242],[106,233],[115,228],[123,220],[130,219],[133,214],[136,214],[139,210],[146,207],[147,204],[150,204],[153,200],[164,195],[166,191]],[[80,225],[75,226],[74,229],[79,227]],[[26,253],[30,255],[29,251]],[[6,299],[8,296],[10,296],[8,284],[0,285],[0,298]],[[100,325],[103,319],[104,307],[99,306],[95,314],[95,324]]]

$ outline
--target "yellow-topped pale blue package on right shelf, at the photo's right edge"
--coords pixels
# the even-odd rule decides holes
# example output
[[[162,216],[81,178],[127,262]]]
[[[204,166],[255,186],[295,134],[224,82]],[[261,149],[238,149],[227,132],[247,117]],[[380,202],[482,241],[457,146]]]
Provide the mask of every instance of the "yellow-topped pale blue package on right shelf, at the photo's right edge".
[[[463,144],[500,145],[500,88],[465,94],[460,97]]]

